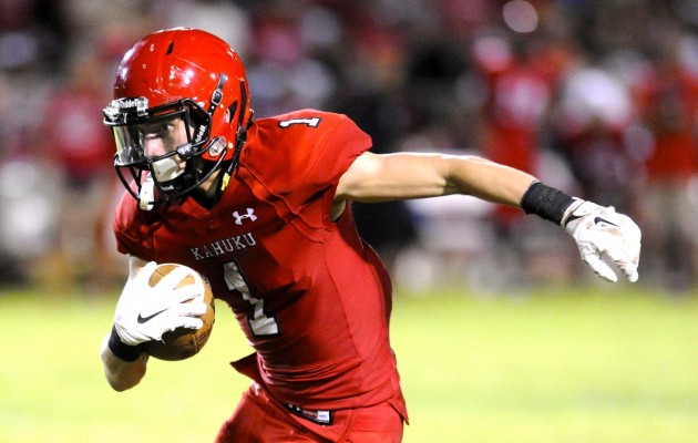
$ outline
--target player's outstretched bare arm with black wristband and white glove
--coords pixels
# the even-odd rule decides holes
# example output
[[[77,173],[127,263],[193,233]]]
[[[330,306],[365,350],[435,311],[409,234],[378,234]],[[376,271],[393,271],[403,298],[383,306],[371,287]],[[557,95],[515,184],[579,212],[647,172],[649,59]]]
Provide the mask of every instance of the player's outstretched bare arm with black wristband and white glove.
[[[584,262],[602,278],[616,281],[613,261],[627,280],[636,281],[640,230],[613,207],[572,197],[522,171],[474,156],[397,153],[361,154],[339,181],[336,213],[347,200],[361,203],[472,195],[521,207],[564,227],[575,239]]]

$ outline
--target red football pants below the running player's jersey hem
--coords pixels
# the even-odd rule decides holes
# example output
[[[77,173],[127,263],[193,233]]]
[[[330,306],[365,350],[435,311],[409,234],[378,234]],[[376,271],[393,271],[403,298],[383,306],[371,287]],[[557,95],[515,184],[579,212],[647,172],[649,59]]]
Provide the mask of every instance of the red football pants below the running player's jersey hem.
[[[253,382],[216,443],[399,443],[402,425],[402,418],[389,403],[333,411],[331,424],[316,423],[270,399]]]

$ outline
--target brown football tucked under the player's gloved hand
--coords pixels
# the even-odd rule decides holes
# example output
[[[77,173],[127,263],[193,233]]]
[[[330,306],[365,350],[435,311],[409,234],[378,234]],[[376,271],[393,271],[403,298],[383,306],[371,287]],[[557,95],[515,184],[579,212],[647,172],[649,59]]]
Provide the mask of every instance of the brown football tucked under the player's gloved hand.
[[[164,276],[172,272],[177,267],[185,267],[184,265],[176,264],[161,264],[155,268],[153,275],[148,280],[151,287],[155,286]],[[174,331],[165,332],[163,340],[152,340],[145,342],[145,352],[158,360],[177,361],[188,359],[198,353],[202,348],[208,341],[213,324],[215,321],[215,307],[213,291],[208,281],[196,272],[194,269],[187,268],[187,275],[179,281],[176,288],[182,288],[186,285],[197,285],[203,282],[204,285],[204,301],[207,305],[206,313],[201,319],[204,321],[204,326],[198,330],[192,330],[186,328],[178,328]]]

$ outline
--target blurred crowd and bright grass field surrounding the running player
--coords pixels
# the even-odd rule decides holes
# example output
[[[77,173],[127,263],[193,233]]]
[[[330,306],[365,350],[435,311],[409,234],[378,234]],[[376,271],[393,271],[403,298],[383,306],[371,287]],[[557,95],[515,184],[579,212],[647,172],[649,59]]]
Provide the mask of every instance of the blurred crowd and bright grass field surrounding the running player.
[[[0,0],[0,441],[211,441],[248,383],[232,316],[126,393],[97,356],[126,272],[102,109],[176,25],[240,53],[257,117],[346,113],[376,152],[485,156],[643,228],[640,280],[608,285],[520,210],[356,205],[397,284],[406,443],[696,441],[696,0]]]

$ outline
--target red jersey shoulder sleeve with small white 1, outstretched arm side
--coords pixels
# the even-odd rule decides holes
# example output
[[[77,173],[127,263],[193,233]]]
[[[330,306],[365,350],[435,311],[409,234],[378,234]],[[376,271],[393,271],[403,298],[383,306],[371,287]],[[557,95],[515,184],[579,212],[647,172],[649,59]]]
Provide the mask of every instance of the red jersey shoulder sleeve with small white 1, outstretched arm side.
[[[260,122],[242,169],[288,217],[328,226],[339,179],[371,145],[348,116],[304,110]]]

